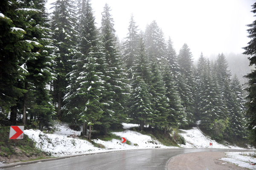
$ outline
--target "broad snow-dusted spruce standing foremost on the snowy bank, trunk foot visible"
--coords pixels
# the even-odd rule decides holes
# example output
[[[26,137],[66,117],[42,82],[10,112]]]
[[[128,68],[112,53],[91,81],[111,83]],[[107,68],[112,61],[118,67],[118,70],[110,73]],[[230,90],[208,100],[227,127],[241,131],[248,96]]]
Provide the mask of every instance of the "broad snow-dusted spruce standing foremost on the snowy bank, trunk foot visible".
[[[66,116],[73,124],[83,123],[82,134],[86,135],[87,125],[91,133],[92,125],[100,124],[104,103],[100,101],[104,91],[103,70],[105,55],[99,42],[95,18],[89,0],[80,2],[79,10],[79,52],[76,52],[68,74],[70,85],[64,96]],[[89,139],[90,139],[89,133]]]

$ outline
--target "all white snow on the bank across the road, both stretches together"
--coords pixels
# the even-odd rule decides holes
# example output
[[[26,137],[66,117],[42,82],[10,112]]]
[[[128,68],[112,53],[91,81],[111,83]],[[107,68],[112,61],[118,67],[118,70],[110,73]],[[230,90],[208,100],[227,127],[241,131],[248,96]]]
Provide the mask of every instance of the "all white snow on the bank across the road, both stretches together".
[[[112,132],[116,136],[120,136],[120,140],[112,139],[111,141],[102,141],[100,139],[93,140],[93,142],[102,144],[105,148],[98,148],[93,146],[86,140],[79,139],[81,131],[71,130],[68,125],[64,123],[56,123],[55,133],[49,134],[41,132],[40,130],[24,130],[24,133],[29,138],[34,139],[36,146],[45,152],[48,152],[52,156],[66,156],[76,155],[84,153],[99,153],[105,151],[116,151],[116,150],[132,150],[132,149],[147,149],[147,148],[173,148],[167,147],[161,144],[151,136],[143,135],[139,132],[129,130],[132,127],[138,125],[123,123],[122,132]],[[186,140],[186,145],[180,145],[181,147],[210,147],[209,143],[213,143],[212,148],[236,148],[233,146],[224,146],[218,144],[209,137],[204,136],[203,133],[197,128],[193,127],[191,130],[181,130],[181,136]],[[125,137],[131,144],[123,144],[121,137]]]

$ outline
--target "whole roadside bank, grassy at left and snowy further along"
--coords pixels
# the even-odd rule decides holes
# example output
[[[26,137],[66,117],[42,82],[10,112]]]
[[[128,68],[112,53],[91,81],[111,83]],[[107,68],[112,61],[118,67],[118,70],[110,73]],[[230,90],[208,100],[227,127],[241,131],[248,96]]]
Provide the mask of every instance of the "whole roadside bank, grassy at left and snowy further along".
[[[81,131],[71,130],[65,123],[55,123],[55,126],[52,127],[55,131],[52,133],[32,129],[24,130],[25,138],[22,139],[23,141],[20,140],[18,142],[17,147],[10,147],[13,152],[9,152],[9,155],[2,149],[3,146],[1,147],[0,164],[106,151],[175,148],[173,146],[165,146],[153,136],[131,130],[134,127],[138,127],[138,125],[127,123],[122,125],[123,131],[112,132],[113,136],[109,138],[93,139],[91,142],[81,139],[79,137]],[[186,144],[180,144],[180,147],[211,148],[209,142],[212,142],[212,148],[242,149],[236,146],[218,144],[208,136],[204,136],[198,127],[193,127],[190,130],[179,130],[179,132],[180,136],[183,136],[186,141]],[[121,137],[125,137],[128,140],[127,143],[121,143]],[[5,138],[7,137],[5,136]],[[24,145],[23,147],[21,147],[22,144]],[[14,159],[14,155],[17,155],[18,150],[22,150],[24,147],[30,149],[19,152],[19,156]]]

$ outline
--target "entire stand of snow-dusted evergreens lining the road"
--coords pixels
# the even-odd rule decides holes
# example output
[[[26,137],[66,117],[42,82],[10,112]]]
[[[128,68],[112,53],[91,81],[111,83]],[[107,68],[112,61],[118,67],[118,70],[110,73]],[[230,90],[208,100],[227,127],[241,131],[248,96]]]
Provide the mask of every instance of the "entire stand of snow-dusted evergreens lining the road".
[[[131,15],[119,42],[108,4],[97,27],[90,0],[56,0],[52,14],[45,3],[0,2],[2,125],[45,130],[58,119],[90,140],[92,130],[106,135],[123,122],[164,134],[199,124],[213,139],[256,145],[255,71],[244,91],[224,54],[202,53],[194,64],[189,45],[175,51],[155,20],[139,30]],[[250,65],[255,26],[244,47]]]

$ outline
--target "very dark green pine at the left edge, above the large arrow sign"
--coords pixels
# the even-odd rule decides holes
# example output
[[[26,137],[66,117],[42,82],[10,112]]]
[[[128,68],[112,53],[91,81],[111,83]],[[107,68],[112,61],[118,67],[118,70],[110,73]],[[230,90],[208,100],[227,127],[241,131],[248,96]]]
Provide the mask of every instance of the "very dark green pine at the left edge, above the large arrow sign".
[[[17,118],[17,99],[26,92],[18,85],[26,73],[20,62],[23,59],[21,51],[27,48],[22,41],[26,31],[21,28],[26,23],[17,16],[20,7],[15,0],[0,2],[0,118],[5,118],[5,114],[12,110],[10,120],[14,123]]]

